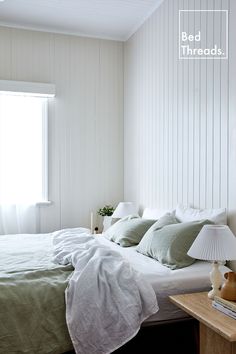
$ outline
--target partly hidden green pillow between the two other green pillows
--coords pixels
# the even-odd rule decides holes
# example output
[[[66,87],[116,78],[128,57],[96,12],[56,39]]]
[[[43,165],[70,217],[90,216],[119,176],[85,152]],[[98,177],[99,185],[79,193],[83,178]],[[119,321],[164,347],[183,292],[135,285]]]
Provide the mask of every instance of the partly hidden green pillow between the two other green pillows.
[[[175,216],[171,213],[167,213],[160,217],[151,227],[148,229],[148,231],[145,233],[143,236],[141,242],[139,243],[137,247],[137,251],[145,254],[147,256],[151,255],[152,252],[152,239],[155,236],[154,231],[160,230],[162,227],[166,225],[171,225],[171,224],[177,224],[178,220],[175,218]]]

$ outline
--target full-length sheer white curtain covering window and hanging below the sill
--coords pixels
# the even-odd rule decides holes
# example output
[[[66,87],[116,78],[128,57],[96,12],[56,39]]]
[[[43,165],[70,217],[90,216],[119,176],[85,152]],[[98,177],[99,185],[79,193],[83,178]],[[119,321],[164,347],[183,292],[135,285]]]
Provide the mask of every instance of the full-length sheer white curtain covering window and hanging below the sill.
[[[0,234],[36,233],[45,99],[0,95]]]

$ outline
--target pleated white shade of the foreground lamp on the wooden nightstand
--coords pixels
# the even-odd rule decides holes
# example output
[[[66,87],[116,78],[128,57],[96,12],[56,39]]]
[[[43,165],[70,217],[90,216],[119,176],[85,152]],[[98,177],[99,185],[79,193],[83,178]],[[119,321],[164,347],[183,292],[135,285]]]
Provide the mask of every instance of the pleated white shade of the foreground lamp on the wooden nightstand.
[[[188,255],[209,261],[236,260],[236,237],[227,225],[204,225]]]

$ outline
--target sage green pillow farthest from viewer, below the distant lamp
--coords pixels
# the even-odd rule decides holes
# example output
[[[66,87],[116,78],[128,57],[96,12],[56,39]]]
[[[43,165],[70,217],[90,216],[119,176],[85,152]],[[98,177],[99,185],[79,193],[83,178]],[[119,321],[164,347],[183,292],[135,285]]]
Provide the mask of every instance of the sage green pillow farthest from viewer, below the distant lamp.
[[[155,221],[135,216],[126,217],[109,227],[104,236],[122,247],[134,246],[141,241],[143,235]]]

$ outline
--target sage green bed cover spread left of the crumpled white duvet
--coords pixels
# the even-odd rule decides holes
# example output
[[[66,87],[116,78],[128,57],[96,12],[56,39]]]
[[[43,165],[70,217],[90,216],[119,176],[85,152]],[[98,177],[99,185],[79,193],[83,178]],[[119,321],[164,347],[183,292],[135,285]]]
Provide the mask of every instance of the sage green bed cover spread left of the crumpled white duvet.
[[[71,266],[52,262],[52,235],[0,236],[0,354],[64,353]]]

